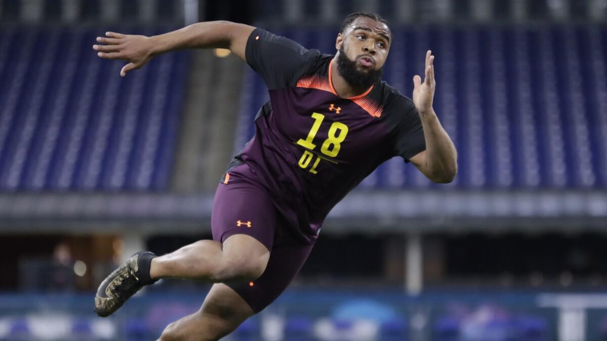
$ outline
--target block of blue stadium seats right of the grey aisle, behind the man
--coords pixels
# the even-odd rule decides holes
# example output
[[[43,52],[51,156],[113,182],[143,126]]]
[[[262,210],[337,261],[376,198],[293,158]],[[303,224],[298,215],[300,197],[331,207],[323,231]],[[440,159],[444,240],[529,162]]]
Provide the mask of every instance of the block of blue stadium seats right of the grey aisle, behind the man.
[[[336,30],[268,29],[334,53]],[[428,49],[436,55],[434,106],[458,147],[458,177],[436,185],[395,158],[359,188],[607,187],[605,27],[394,28],[385,81],[410,96]],[[244,86],[236,150],[268,99],[253,70]]]

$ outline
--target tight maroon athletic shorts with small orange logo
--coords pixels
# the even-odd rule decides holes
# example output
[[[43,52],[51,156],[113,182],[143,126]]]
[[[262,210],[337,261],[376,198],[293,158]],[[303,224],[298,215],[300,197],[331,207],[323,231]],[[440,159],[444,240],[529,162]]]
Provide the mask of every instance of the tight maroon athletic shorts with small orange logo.
[[[268,266],[259,279],[226,283],[256,313],[274,302],[287,288],[314,246],[297,241],[289,234],[268,191],[229,173],[215,192],[211,229],[215,241],[223,243],[231,235],[246,234],[270,250]]]

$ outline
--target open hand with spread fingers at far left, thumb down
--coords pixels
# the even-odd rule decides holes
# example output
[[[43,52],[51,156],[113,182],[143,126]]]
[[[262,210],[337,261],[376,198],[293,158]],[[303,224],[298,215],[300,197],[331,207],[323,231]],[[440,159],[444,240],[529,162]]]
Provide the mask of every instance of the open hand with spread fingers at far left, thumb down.
[[[93,45],[93,50],[101,58],[129,62],[120,70],[120,76],[123,77],[127,72],[143,67],[154,56],[154,44],[147,36],[106,32],[106,37],[97,37],[97,41],[105,44]]]

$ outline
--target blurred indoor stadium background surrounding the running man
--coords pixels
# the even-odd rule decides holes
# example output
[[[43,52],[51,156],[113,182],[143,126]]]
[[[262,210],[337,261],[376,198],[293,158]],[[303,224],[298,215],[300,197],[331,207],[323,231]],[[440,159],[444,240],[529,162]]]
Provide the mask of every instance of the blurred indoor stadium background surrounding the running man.
[[[607,340],[607,0],[0,0],[0,340],[154,340],[209,289],[162,280],[93,312],[134,252],[211,238],[265,85],[226,50],[120,78],[96,36],[225,19],[334,53],[359,11],[390,22],[405,95],[436,55],[458,176],[382,164],[225,340]]]

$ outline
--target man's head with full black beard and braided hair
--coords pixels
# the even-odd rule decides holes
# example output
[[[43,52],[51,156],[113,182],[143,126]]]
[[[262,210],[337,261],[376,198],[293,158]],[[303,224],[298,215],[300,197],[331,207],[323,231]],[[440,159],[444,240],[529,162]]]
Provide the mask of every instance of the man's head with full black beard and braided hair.
[[[337,70],[355,87],[370,87],[381,79],[390,50],[388,22],[375,13],[352,13],[337,35]]]

